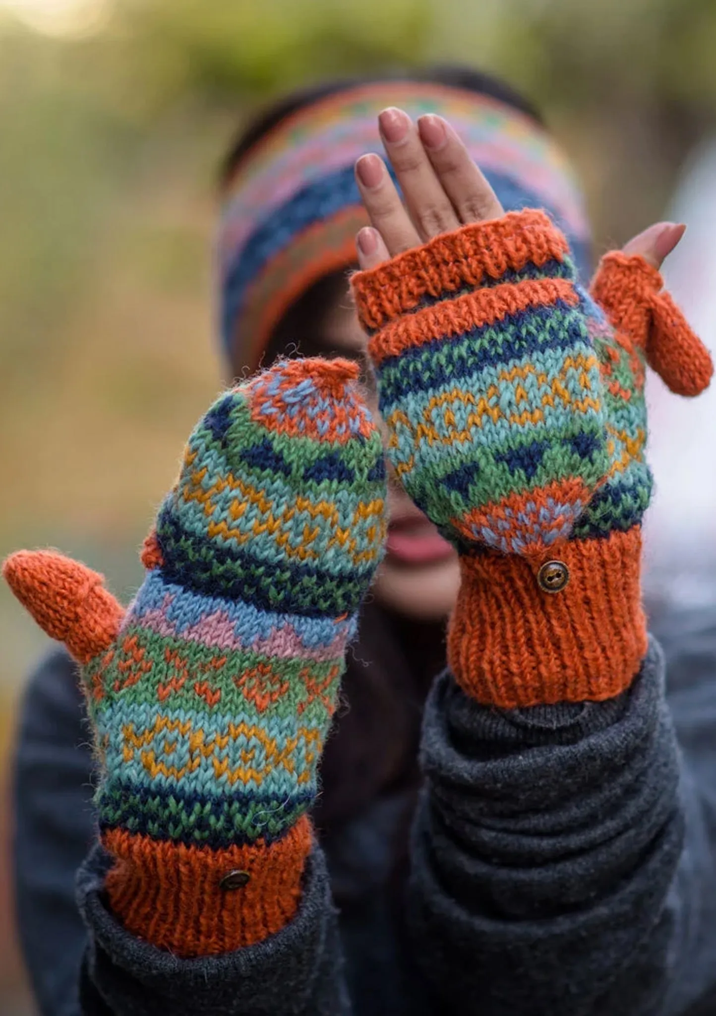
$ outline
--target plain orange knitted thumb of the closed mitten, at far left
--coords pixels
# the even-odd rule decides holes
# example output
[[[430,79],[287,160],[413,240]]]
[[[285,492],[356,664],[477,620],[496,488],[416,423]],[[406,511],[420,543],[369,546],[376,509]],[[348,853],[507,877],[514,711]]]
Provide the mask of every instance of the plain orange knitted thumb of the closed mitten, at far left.
[[[124,608],[104,576],[57,551],[17,551],[3,578],[50,638],[64,642],[78,663],[104,652],[119,631]]]

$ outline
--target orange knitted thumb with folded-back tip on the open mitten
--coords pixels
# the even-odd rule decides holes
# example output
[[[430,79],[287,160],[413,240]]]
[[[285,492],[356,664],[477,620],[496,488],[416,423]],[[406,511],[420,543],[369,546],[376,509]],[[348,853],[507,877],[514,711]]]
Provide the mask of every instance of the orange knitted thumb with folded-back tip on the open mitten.
[[[699,395],[713,374],[711,357],[663,284],[641,255],[612,251],[601,259],[591,293],[674,394]]]

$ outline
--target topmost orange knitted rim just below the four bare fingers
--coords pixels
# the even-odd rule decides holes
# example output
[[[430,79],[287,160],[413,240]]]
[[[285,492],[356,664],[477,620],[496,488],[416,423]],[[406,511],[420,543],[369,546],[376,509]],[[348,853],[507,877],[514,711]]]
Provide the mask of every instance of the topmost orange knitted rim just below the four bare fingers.
[[[448,297],[476,289],[486,278],[501,279],[537,266],[563,261],[569,245],[543,211],[510,211],[487,223],[471,223],[434,237],[371,271],[351,278],[359,319],[367,331],[414,310],[426,297]]]

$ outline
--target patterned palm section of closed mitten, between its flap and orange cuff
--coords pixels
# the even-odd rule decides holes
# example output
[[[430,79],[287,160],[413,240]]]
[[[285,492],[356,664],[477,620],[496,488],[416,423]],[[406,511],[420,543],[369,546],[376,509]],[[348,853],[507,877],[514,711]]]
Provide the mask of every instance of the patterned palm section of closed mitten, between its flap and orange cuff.
[[[102,827],[214,847],[280,836],[315,797],[353,626],[151,573],[99,661]]]

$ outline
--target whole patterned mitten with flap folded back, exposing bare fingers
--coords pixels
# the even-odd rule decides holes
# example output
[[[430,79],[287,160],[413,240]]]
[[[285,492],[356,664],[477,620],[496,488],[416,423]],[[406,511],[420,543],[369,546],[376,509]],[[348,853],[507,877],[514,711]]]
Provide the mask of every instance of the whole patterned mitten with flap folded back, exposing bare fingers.
[[[485,704],[608,698],[646,651],[645,350],[676,391],[711,376],[647,268],[607,255],[592,297],[566,238],[525,210],[352,277],[388,456],[460,553],[449,662]],[[550,594],[537,577],[556,556],[571,578]]]

